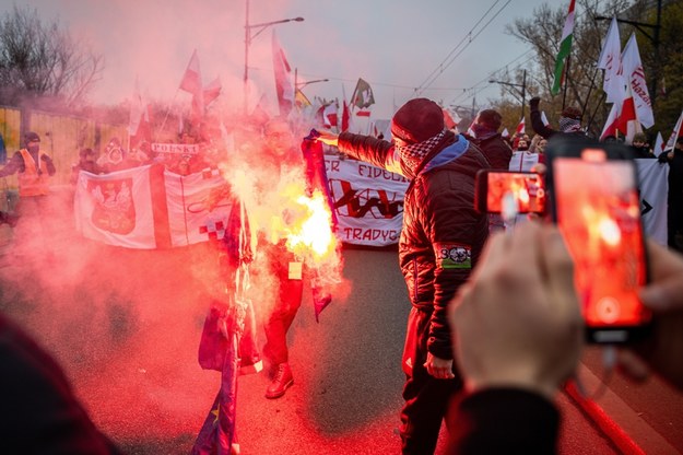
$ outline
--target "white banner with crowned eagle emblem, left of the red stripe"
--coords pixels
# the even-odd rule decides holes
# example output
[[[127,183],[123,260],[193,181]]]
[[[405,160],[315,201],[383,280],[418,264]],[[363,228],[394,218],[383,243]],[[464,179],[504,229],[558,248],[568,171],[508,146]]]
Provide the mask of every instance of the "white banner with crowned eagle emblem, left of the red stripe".
[[[150,166],[106,175],[81,171],[74,196],[76,231],[109,245],[156,247]]]

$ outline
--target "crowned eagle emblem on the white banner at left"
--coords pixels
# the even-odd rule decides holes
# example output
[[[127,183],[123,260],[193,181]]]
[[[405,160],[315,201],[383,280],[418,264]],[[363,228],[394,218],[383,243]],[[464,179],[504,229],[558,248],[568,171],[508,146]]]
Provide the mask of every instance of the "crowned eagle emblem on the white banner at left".
[[[130,234],[136,228],[136,206],[131,194],[132,178],[89,182],[87,191],[95,202],[92,221],[114,234]]]

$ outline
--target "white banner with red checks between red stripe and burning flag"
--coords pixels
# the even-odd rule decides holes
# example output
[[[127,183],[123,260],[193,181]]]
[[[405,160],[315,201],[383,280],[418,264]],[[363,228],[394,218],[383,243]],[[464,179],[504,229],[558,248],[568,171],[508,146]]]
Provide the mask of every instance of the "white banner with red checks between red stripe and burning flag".
[[[181,176],[164,171],[172,246],[223,238],[234,206],[217,170]]]

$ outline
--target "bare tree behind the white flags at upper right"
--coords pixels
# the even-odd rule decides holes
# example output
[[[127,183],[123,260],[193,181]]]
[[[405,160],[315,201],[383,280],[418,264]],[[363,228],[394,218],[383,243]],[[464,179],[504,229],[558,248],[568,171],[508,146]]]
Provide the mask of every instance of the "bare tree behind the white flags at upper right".
[[[527,66],[528,93],[530,96],[537,95],[543,100],[544,109],[551,121],[557,119],[563,106],[574,105],[582,109],[585,122],[590,127],[591,132],[600,133],[610,106],[604,103],[602,71],[597,68],[597,63],[609,21],[597,21],[596,18],[617,16],[655,24],[656,3],[652,0],[577,0],[572,57],[565,74],[566,83],[556,96],[551,94],[550,89],[553,84],[553,69],[567,14],[567,4],[550,7],[545,3],[535,9],[530,16],[519,19],[507,27],[510,35],[530,44],[534,50],[534,58]],[[678,83],[681,81],[679,62],[682,55],[680,44],[683,40],[680,39],[680,24],[683,8],[680,1],[663,0],[662,4],[664,10],[658,52],[653,51],[649,37],[640,36],[641,32],[636,32],[646,74],[648,78],[659,74],[658,92],[661,91],[662,79],[666,78],[667,83],[667,95],[657,94],[655,105],[657,124],[652,131],[661,127],[664,130],[671,128],[681,112],[683,102],[683,89],[679,89],[681,85]],[[622,24],[620,28],[622,45],[624,45],[635,30],[627,24]],[[658,73],[655,68],[659,69]],[[498,77],[507,78],[513,83],[521,81],[520,71],[513,75]]]

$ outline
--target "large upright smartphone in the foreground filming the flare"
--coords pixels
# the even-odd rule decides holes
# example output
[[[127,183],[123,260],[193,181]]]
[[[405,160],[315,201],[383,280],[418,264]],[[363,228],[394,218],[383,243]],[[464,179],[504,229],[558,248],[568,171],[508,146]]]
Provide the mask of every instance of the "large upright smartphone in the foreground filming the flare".
[[[585,138],[556,138],[546,148],[551,215],[574,258],[592,343],[636,341],[651,326],[651,313],[638,299],[648,271],[631,153]]]

